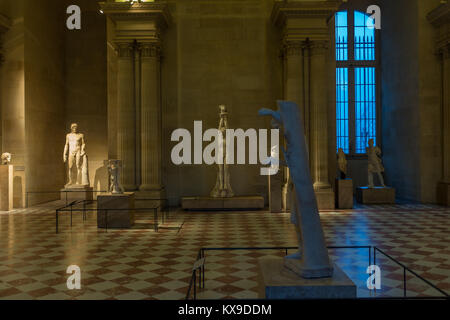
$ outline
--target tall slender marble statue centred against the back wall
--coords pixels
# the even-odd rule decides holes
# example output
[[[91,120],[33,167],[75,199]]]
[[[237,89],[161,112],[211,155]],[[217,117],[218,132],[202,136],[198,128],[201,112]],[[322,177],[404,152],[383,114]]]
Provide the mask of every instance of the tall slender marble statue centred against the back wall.
[[[211,197],[213,198],[231,198],[234,196],[233,190],[230,184],[230,172],[228,169],[228,164],[226,163],[226,130],[228,129],[228,112],[224,105],[219,106],[219,131],[222,133],[221,141],[218,142],[219,148],[221,149],[221,154],[223,156],[222,164],[218,164],[216,185],[211,191]]]

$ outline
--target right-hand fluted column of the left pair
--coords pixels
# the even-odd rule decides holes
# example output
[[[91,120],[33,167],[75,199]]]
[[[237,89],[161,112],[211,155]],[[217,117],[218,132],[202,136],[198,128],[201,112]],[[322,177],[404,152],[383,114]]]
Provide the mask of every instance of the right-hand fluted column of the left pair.
[[[141,191],[160,191],[160,47],[141,44]]]

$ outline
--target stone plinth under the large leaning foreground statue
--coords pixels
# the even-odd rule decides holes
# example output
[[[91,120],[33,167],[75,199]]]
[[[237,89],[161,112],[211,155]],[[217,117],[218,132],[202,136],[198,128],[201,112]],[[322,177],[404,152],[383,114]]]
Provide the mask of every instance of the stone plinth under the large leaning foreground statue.
[[[356,285],[336,265],[331,278],[303,279],[281,258],[259,259],[260,299],[355,299]]]

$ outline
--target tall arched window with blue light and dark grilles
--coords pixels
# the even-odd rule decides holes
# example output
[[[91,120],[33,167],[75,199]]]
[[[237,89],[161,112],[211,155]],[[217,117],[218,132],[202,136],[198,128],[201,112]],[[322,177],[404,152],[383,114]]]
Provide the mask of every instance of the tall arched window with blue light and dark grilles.
[[[335,21],[337,149],[361,155],[369,139],[378,140],[376,30],[359,11],[337,12]]]

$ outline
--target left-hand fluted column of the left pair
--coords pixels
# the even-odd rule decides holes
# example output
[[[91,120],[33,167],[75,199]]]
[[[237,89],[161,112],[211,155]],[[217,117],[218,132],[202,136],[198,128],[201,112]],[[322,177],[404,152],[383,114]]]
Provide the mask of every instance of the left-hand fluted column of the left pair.
[[[117,43],[117,154],[123,161],[121,183],[125,190],[136,190],[136,135],[134,92],[134,48],[131,42]]]

